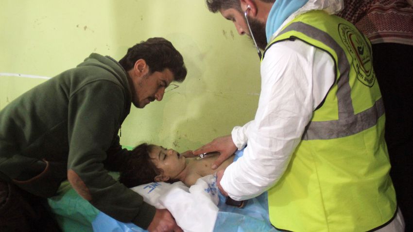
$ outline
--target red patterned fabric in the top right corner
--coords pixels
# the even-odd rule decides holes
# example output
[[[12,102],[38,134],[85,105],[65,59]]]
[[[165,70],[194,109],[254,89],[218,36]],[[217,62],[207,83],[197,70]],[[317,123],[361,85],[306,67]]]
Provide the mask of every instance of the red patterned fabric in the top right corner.
[[[339,14],[372,42],[413,45],[413,3],[410,0],[344,0]]]

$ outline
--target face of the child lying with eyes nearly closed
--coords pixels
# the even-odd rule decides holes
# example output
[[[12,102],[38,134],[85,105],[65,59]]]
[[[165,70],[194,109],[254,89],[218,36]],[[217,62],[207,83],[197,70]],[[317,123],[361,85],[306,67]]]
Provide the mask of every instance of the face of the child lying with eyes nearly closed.
[[[154,146],[149,156],[155,166],[163,170],[162,174],[155,177],[156,182],[176,179],[186,166],[185,157],[173,149]]]

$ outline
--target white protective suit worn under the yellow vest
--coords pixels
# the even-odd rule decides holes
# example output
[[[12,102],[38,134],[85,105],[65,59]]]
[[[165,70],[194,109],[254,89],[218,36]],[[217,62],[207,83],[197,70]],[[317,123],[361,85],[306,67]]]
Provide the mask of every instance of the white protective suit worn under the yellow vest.
[[[342,7],[342,0],[309,0],[284,21],[270,41],[297,15],[310,10],[335,14]],[[300,40],[276,43],[266,51],[256,116],[231,133],[238,149],[248,144],[220,182],[232,199],[254,198],[281,178],[334,78],[332,58]]]

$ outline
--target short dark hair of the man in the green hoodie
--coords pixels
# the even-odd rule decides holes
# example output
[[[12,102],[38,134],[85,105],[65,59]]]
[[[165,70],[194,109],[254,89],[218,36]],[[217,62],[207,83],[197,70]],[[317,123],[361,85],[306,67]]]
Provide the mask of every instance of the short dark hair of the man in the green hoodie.
[[[126,71],[129,71],[139,59],[145,60],[149,66],[150,74],[157,71],[162,72],[168,68],[173,74],[174,81],[183,82],[187,76],[187,68],[181,53],[164,38],[155,37],[141,41],[128,49],[126,55],[120,59],[119,64]]]

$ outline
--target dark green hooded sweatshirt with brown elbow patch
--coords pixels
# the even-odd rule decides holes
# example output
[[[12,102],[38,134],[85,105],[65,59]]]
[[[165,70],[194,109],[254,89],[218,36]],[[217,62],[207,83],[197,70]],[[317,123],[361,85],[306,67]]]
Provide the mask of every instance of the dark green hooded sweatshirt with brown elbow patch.
[[[103,213],[146,229],[155,208],[114,180],[128,155],[118,131],[130,112],[127,72],[92,53],[0,111],[0,179],[41,197],[66,179]]]

